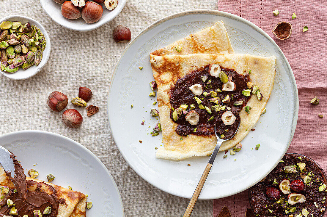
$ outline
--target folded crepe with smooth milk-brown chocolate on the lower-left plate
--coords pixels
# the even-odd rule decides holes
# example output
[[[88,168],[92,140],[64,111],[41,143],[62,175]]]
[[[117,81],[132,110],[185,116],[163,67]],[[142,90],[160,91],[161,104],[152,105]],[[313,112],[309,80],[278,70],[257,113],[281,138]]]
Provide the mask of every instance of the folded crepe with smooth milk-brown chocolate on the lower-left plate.
[[[50,206],[52,211],[50,214],[46,214],[47,217],[86,217],[86,195],[49,182],[25,178],[27,193],[26,199],[23,201],[19,193],[14,191],[13,182],[2,166],[0,167],[0,185],[8,186],[10,189],[8,194],[1,193],[4,198],[0,200],[0,215],[9,215],[9,210],[15,207],[19,216],[24,214],[34,216],[32,214],[34,210],[40,210],[42,213],[46,207]],[[15,205],[8,208],[7,199],[11,199]]]

